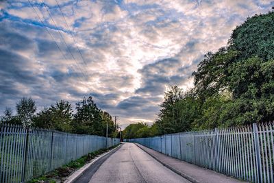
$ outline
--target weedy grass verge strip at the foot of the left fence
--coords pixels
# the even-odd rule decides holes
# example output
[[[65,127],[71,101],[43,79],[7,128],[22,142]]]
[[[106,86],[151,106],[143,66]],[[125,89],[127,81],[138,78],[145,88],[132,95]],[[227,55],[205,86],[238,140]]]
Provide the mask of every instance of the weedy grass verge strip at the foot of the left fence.
[[[83,167],[86,163],[90,162],[92,159],[94,159],[96,156],[103,154],[106,151],[109,151],[110,149],[113,149],[117,147],[118,145],[115,145],[113,147],[110,147],[108,149],[99,149],[98,151],[91,152],[87,154],[86,156],[82,156],[81,158],[71,161],[68,164],[63,165],[62,167],[55,169],[53,171],[50,171],[46,173],[45,175],[40,176],[39,178],[34,178],[32,180],[29,180],[28,183],[34,183],[34,182],[44,182],[44,183],[58,183],[58,182],[64,182],[64,180],[71,175],[74,171],[77,169]]]

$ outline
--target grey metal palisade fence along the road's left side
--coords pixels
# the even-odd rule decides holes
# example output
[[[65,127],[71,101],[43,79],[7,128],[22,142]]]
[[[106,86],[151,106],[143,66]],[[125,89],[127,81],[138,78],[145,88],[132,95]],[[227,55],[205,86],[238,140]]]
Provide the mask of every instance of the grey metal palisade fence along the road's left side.
[[[0,182],[26,182],[92,151],[119,144],[119,138],[0,126]],[[107,143],[108,142],[108,143]]]

